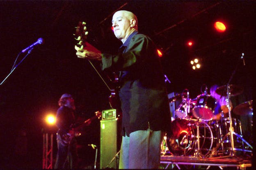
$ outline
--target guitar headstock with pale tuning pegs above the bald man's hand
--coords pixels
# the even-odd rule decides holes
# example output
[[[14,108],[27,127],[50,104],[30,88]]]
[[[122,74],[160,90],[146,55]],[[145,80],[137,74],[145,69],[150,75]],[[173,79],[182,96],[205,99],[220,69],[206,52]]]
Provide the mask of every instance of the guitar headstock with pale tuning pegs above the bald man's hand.
[[[75,36],[75,40],[78,40],[78,41],[79,41],[79,42],[78,42],[78,45],[79,45],[79,46],[84,45],[85,42],[86,42],[86,38],[87,38],[87,35],[88,35],[88,31],[86,31],[87,28],[86,28],[85,25],[86,25],[86,22],[81,22],[81,21],[79,21],[79,22],[78,22],[78,26],[75,27],[76,29],[75,29],[75,34],[74,34],[74,36]]]

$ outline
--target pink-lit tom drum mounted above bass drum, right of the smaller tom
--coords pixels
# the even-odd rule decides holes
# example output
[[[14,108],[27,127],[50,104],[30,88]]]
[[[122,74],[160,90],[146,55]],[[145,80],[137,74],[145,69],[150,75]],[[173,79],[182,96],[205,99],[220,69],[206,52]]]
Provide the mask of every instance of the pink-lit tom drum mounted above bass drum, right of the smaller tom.
[[[210,95],[201,94],[197,96],[197,103],[192,110],[195,118],[203,121],[210,121],[214,116],[214,109],[216,107],[216,100]]]

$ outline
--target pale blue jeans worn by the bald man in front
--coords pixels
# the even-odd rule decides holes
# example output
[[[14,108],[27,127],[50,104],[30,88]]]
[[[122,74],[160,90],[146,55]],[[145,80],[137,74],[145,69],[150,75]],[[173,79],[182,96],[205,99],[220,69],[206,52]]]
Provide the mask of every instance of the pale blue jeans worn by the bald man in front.
[[[165,132],[138,130],[123,136],[119,169],[158,169]]]

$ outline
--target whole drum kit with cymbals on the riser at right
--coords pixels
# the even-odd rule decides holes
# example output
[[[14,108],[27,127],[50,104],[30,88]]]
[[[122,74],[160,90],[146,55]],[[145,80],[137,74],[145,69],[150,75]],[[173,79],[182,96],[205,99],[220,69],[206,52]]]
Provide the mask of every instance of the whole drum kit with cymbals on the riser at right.
[[[243,92],[238,85],[226,87],[218,87],[216,93],[229,99],[230,96]],[[217,101],[206,90],[195,99],[189,98],[187,89],[169,99],[170,102],[182,101],[175,110],[170,130],[162,141],[161,154],[229,157],[241,151],[242,154],[252,156],[252,146],[242,137],[241,122],[231,117],[229,101],[229,117],[213,120]],[[236,106],[233,113],[239,116],[253,114],[252,100]]]

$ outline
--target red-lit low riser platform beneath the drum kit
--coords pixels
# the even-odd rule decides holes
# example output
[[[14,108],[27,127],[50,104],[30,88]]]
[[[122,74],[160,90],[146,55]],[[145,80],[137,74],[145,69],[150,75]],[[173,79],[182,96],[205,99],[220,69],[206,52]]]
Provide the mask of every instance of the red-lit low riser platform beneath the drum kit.
[[[172,169],[176,166],[178,169],[180,165],[190,165],[190,166],[215,166],[219,169],[226,167],[236,167],[237,169],[251,169],[251,157],[212,157],[212,158],[200,158],[200,157],[188,157],[188,156],[173,156],[165,155],[161,156],[161,165],[165,169]],[[192,168],[189,168],[192,169]]]

